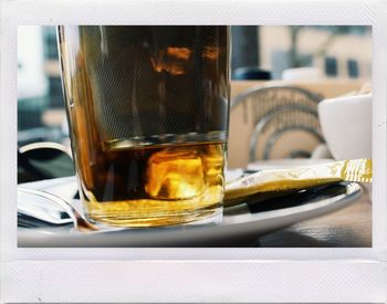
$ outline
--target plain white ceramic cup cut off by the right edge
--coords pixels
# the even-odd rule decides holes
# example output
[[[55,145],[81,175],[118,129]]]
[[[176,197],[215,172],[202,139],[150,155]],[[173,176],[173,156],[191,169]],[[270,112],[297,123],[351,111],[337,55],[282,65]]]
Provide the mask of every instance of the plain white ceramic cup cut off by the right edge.
[[[372,158],[372,94],[364,94],[318,104],[320,123],[335,159]]]

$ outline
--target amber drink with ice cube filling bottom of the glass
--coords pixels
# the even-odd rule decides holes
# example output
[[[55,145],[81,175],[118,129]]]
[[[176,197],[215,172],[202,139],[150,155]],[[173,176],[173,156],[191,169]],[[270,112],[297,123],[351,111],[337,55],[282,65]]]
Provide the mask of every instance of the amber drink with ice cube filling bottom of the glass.
[[[79,164],[87,217],[108,226],[165,226],[217,216],[223,197],[221,143],[93,153]],[[129,199],[128,199],[129,198]]]

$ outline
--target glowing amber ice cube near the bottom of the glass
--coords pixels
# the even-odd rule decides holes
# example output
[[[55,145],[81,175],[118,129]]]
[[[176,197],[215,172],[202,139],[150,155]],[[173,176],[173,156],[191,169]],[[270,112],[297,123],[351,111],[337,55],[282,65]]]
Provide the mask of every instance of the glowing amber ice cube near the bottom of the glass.
[[[147,164],[145,191],[155,199],[188,199],[206,189],[201,157],[192,149],[165,149]]]

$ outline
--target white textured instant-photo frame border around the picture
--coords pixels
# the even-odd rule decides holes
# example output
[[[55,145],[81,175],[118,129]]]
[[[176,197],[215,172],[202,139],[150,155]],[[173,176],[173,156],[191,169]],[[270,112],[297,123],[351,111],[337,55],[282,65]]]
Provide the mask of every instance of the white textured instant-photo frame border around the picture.
[[[53,24],[373,27],[373,248],[76,249],[17,244],[17,28]],[[385,303],[387,6],[384,1],[3,1],[1,303]]]

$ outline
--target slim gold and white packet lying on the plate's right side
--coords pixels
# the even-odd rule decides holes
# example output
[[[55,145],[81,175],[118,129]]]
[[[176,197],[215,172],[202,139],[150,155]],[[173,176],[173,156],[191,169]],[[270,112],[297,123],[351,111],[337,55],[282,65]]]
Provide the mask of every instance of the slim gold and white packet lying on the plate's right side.
[[[257,201],[339,181],[372,182],[372,179],[370,159],[349,159],[324,165],[262,170],[227,184],[224,207],[240,203],[252,196]]]

